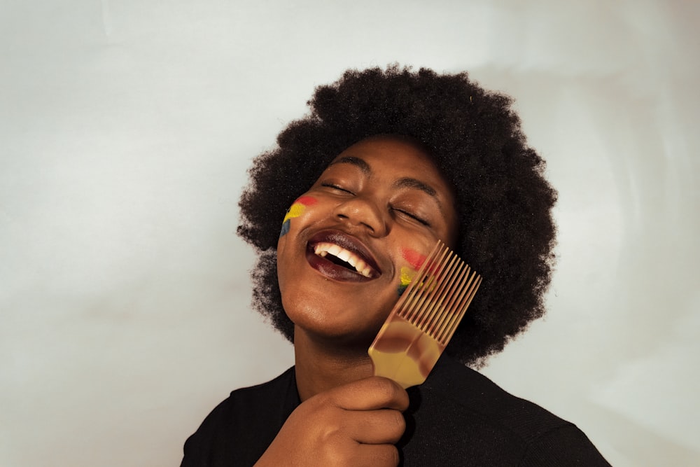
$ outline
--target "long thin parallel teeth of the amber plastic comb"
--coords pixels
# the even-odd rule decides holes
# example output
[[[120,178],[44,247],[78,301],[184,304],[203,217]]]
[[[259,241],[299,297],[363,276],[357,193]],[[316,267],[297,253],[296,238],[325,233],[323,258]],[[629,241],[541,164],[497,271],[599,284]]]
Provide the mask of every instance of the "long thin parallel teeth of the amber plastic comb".
[[[396,313],[440,344],[454,335],[481,276],[437,242],[396,304]]]

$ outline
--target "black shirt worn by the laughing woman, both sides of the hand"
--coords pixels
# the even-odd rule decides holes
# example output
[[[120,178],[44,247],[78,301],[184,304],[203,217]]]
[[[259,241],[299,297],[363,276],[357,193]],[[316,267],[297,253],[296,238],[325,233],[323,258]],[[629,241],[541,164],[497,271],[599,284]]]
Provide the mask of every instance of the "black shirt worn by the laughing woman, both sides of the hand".
[[[408,389],[403,466],[609,466],[575,425],[442,356]],[[294,368],[233,391],[185,443],[181,467],[252,466],[300,404]]]

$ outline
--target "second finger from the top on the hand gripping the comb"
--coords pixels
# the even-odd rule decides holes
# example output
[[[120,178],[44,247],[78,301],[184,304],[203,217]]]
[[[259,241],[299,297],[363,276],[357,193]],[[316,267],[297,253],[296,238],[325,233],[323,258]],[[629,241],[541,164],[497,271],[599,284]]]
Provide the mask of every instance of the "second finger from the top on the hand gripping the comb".
[[[352,440],[363,444],[381,445],[398,442],[406,429],[406,420],[398,410],[348,410],[343,421],[344,431]]]

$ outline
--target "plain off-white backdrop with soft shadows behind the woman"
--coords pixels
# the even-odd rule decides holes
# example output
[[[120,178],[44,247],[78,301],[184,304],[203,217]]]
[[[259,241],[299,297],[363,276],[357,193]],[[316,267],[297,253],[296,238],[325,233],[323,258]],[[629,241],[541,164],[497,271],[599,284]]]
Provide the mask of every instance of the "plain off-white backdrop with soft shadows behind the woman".
[[[391,62],[514,95],[559,190],[549,314],[484,372],[615,466],[699,465],[699,6],[1,0],[0,466],[178,465],[292,363],[248,306],[245,171]]]

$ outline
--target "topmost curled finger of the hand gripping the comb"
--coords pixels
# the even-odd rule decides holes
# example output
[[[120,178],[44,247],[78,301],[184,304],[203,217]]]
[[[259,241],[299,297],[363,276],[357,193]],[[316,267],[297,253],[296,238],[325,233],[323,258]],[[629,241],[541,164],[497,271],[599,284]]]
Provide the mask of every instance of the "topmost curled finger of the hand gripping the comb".
[[[346,410],[377,410],[408,408],[408,393],[391,379],[372,376],[359,379],[328,391],[337,407]]]

